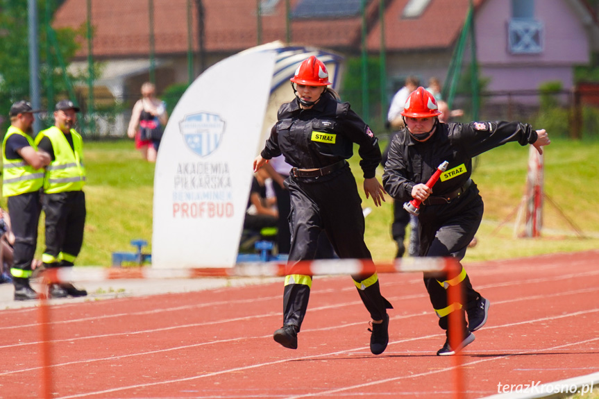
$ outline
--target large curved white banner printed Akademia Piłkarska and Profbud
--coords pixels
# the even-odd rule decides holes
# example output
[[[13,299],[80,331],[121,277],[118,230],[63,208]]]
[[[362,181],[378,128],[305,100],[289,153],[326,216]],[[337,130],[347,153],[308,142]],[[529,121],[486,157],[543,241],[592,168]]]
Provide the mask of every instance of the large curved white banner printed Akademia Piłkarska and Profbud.
[[[273,43],[217,63],[183,94],[155,167],[153,267],[235,264],[253,159],[278,107],[293,99],[289,78],[310,55],[329,62],[333,76],[337,56]]]

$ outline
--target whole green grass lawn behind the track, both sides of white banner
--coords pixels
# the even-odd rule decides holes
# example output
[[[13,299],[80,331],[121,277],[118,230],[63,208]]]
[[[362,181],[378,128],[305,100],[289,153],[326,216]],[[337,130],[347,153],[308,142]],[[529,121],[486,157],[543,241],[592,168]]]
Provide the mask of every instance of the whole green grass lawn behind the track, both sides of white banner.
[[[567,219],[546,201],[540,239],[514,236],[515,217],[508,218],[523,195],[528,148],[510,143],[480,155],[473,180],[484,198],[485,214],[477,235],[479,244],[469,249],[466,262],[599,248],[597,154],[599,142],[556,140],[546,148],[545,192]],[[355,155],[351,166],[362,192],[358,161]],[[108,266],[112,252],[133,251],[131,239],[146,239],[151,245],[154,164],[142,160],[133,142],[117,140],[85,142],[85,166],[87,223],[77,264]],[[381,175],[379,168],[378,176]],[[362,203],[363,207],[373,208],[366,217],[366,243],[378,261],[390,260],[396,251],[390,234],[391,203],[389,196],[382,207],[374,207],[371,199],[364,198]],[[566,220],[575,223],[588,237],[575,237]],[[503,221],[507,223],[496,232]],[[44,249],[42,226],[43,217],[38,257]]]

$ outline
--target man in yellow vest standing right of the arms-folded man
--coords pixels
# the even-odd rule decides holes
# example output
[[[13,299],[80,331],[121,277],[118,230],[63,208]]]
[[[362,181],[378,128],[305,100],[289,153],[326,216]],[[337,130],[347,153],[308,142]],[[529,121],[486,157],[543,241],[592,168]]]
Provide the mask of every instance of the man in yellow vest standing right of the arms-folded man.
[[[42,255],[44,268],[74,266],[83,244],[85,226],[85,167],[83,139],[73,128],[79,108],[72,101],[56,104],[54,126],[42,130],[35,143],[50,154],[51,162],[44,176],[42,207],[46,216],[46,249]],[[52,284],[51,298],[86,296],[70,282]]]

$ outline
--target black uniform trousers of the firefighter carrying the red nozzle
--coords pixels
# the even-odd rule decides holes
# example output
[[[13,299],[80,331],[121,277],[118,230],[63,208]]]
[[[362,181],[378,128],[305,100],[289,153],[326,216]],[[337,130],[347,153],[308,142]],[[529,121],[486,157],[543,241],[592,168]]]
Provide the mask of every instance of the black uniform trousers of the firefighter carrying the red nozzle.
[[[475,186],[473,184],[473,186]],[[444,205],[423,205],[419,216],[420,226],[420,254],[428,257],[448,257],[462,260],[466,255],[466,248],[474,238],[480,221],[484,205],[482,198],[478,194],[478,189],[471,187],[468,192],[462,194],[459,198]],[[462,327],[466,328],[466,317],[464,311],[470,305],[475,305],[480,294],[475,291],[470,282],[469,276],[462,270],[463,278],[459,275],[448,275],[444,281],[439,278],[424,277],[424,284],[430,297],[432,307],[447,309],[448,304],[446,285],[444,282],[456,279],[457,284],[453,285],[457,289],[462,289],[462,295],[465,304],[461,304],[460,309],[453,311],[462,314]],[[443,279],[441,279],[443,280]],[[461,280],[461,281],[460,281]],[[439,312],[437,312],[439,316]],[[447,330],[448,314],[439,316],[439,327]]]

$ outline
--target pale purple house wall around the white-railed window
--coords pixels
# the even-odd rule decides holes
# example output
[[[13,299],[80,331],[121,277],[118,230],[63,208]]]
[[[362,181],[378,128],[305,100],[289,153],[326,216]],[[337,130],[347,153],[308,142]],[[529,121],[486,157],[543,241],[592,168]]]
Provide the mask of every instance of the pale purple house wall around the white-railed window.
[[[573,87],[572,67],[589,62],[587,33],[567,0],[537,0],[534,14],[544,26],[543,51],[511,54],[507,33],[511,1],[489,0],[479,8],[475,19],[477,56],[482,76],[490,78],[487,91],[537,90],[548,80],[560,80],[569,90]],[[531,96],[522,100],[537,101]]]

